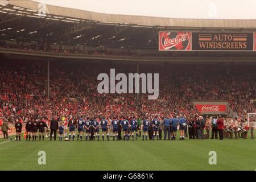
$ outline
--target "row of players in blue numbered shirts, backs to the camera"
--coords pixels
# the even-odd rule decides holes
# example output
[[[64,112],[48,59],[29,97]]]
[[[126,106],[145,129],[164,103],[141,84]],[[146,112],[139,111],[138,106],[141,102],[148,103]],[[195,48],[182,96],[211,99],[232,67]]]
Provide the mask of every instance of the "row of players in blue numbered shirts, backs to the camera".
[[[114,117],[112,121],[108,122],[108,120],[104,117],[99,121],[97,118],[94,118],[92,121],[89,117],[84,119],[83,117],[79,117],[79,119],[73,119],[72,117],[68,117],[67,125],[65,125],[65,121],[61,121],[59,126],[59,140],[63,140],[67,137],[67,127],[69,127],[69,140],[75,139],[76,128],[77,128],[77,140],[82,140],[82,133],[84,133],[85,140],[100,140],[100,128],[102,131],[102,140],[106,139],[110,140],[110,133],[112,133],[113,140],[118,140],[119,135],[121,135],[121,130],[123,131],[123,140],[137,140],[139,133],[138,130],[142,129],[142,140],[148,137],[148,128],[152,126],[154,130],[153,140],[159,139],[159,125],[160,121],[156,117],[150,121],[148,118],[144,119],[142,125],[139,126],[139,123],[135,117],[133,117],[130,121],[127,118],[123,117],[117,118]],[[120,130],[121,129],[121,130]]]

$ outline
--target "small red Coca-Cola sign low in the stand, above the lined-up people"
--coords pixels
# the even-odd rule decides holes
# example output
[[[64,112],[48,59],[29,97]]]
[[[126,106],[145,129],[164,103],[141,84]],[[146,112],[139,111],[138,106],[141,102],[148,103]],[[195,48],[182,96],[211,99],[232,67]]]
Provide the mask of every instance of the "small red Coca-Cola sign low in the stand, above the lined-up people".
[[[196,109],[202,113],[226,112],[226,105],[219,104],[196,104]]]

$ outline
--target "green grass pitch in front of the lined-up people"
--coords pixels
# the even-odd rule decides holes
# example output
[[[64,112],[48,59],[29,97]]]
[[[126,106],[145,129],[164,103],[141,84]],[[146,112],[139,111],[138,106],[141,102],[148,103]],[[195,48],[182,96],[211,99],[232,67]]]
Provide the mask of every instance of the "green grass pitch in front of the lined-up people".
[[[178,138],[178,137],[177,137]],[[101,138],[100,138],[101,139]],[[253,170],[256,139],[43,141],[3,143],[0,170]],[[38,152],[46,152],[46,165]],[[210,165],[209,151],[217,152]]]

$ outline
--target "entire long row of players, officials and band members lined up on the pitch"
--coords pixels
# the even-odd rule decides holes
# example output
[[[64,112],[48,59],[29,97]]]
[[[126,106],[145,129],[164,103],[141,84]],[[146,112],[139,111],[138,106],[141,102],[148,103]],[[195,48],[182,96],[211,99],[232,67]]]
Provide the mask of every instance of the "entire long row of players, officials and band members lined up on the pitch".
[[[199,116],[197,117],[199,119],[193,119],[192,117],[183,118],[182,115],[180,115],[179,119],[176,117],[174,118],[162,118],[161,121],[159,121],[158,117],[155,116],[154,118],[146,118],[141,123],[140,119],[137,119],[135,117],[130,118],[129,121],[127,118],[112,118],[106,119],[103,118],[101,121],[99,119],[90,119],[84,117],[77,117],[73,118],[72,115],[69,115],[68,117],[62,117],[60,118],[60,126],[57,121],[59,119],[57,117],[53,118],[52,120],[55,120],[56,122],[56,130],[59,129],[59,140],[63,140],[63,137],[68,140],[74,140],[76,130],[78,131],[77,134],[77,140],[82,140],[82,134],[84,133],[85,140],[99,140],[100,139],[100,133],[99,130],[101,128],[102,130],[102,140],[105,139],[105,135],[107,140],[110,140],[109,138],[113,136],[113,140],[130,140],[130,138],[137,139],[138,135],[141,137],[141,131],[143,132],[142,140],[149,137],[150,139],[161,139],[162,138],[162,130],[164,130],[164,139],[170,139],[170,134],[172,134],[172,139],[176,138],[176,131],[177,126],[179,126],[180,130],[180,139],[184,140],[184,137],[187,136],[187,129],[188,129],[188,135],[189,139],[204,139],[204,129],[207,131],[207,138],[209,138],[209,130],[212,129],[212,139],[217,137],[217,133],[219,130],[220,125],[217,124],[217,117],[213,117],[212,119],[207,117],[206,121],[204,121],[203,117]],[[220,118],[219,118],[220,119]],[[221,119],[220,119],[221,120]],[[233,133],[236,137],[247,137],[247,131],[249,129],[253,129],[254,126],[254,120],[252,122],[245,121],[238,121],[237,118],[223,118],[223,126],[222,130],[225,137],[233,138]],[[52,122],[52,121],[51,121]],[[23,120],[21,118],[16,119],[15,123],[15,129],[16,129],[16,140],[20,140],[22,133],[22,123]],[[250,127],[249,127],[250,125]],[[38,131],[39,131],[39,140],[44,140],[44,133],[46,129],[46,134],[49,133],[49,121],[47,121],[46,118],[30,118],[26,122],[26,140],[30,140],[32,137],[32,140],[36,140],[38,137]],[[52,126],[52,125],[51,125]],[[69,138],[67,138],[67,131],[69,129]],[[52,128],[51,128],[52,131]],[[123,138],[121,137],[121,131],[123,131]],[[56,135],[56,134],[55,134]],[[240,135],[240,136],[239,136]],[[48,135],[46,135],[48,137]],[[52,134],[51,136],[52,137]],[[55,137],[56,138],[56,137]],[[221,136],[220,139],[223,137]],[[253,138],[253,130],[251,130],[251,138]]]

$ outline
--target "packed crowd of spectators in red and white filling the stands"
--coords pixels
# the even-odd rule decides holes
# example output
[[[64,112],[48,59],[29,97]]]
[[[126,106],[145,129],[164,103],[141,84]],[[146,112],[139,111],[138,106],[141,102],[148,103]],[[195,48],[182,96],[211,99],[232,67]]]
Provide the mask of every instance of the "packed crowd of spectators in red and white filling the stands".
[[[88,115],[89,117],[187,116],[199,113],[191,100],[226,100],[240,117],[255,112],[256,72],[249,66],[141,65],[140,73],[159,73],[159,98],[147,94],[100,94],[99,73],[135,73],[134,64],[52,61],[47,97],[47,63],[3,61],[0,64],[0,117]],[[138,98],[137,98],[138,97]]]

